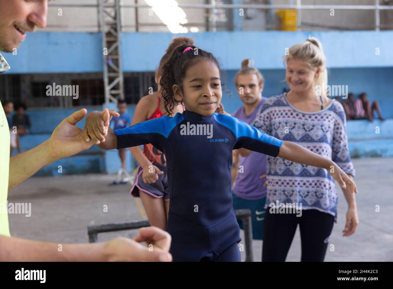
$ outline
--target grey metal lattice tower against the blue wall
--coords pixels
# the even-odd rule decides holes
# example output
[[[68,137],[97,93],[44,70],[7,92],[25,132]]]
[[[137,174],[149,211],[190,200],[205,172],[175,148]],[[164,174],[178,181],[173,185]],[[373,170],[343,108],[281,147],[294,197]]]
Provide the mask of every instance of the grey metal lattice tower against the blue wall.
[[[121,0],[98,0],[104,60],[105,102],[124,99],[123,69],[121,65]]]

